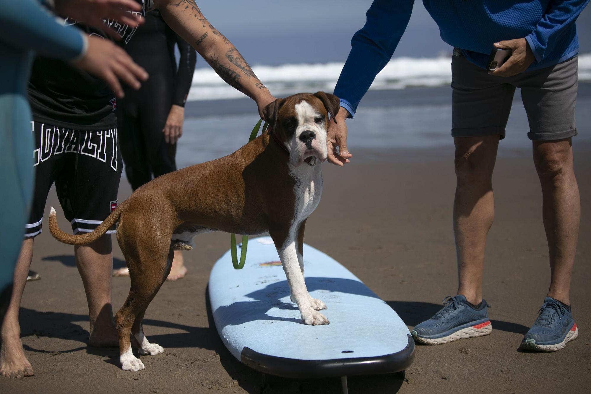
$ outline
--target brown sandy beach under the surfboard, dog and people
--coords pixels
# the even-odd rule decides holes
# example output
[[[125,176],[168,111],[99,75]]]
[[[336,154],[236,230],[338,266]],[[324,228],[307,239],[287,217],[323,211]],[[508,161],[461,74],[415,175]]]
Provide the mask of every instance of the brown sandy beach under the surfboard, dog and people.
[[[591,144],[574,138],[582,199],[577,261],[571,287],[579,338],[553,354],[517,350],[549,283],[541,222],[541,193],[527,150],[499,157],[493,179],[495,224],[489,234],[484,294],[493,332],[488,337],[416,347],[402,374],[350,377],[350,393],[584,392],[591,383]],[[430,317],[456,292],[452,234],[455,186],[451,147],[355,151],[345,169],[324,164],[319,208],[306,225],[306,242],[344,264],[388,302],[409,328]],[[119,201],[131,193],[125,179]],[[47,204],[59,206],[54,191]],[[46,213],[46,218],[47,218]],[[68,223],[59,210],[60,225]],[[115,238],[113,237],[113,241]],[[115,241],[116,244],[116,241]],[[2,393],[340,393],[339,379],[268,379],[235,360],[220,341],[206,302],[209,271],[229,248],[229,236],[196,238],[185,254],[189,274],[165,283],[148,308],[145,332],[166,349],[142,356],[146,370],[119,369],[118,349],[87,347],[85,293],[73,248],[54,240],[44,221],[35,240],[21,308],[22,343],[35,376],[0,379]],[[123,264],[115,245],[115,267]],[[113,278],[113,309],[128,278]],[[368,327],[371,330],[371,327]]]

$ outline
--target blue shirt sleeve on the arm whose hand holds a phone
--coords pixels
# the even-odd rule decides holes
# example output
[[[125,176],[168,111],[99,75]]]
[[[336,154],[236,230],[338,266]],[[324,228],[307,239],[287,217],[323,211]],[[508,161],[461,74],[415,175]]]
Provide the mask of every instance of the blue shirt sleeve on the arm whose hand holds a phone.
[[[525,37],[538,63],[551,53],[565,32],[571,31],[571,25],[577,20],[587,3],[589,0],[554,0],[552,2],[534,31]]]

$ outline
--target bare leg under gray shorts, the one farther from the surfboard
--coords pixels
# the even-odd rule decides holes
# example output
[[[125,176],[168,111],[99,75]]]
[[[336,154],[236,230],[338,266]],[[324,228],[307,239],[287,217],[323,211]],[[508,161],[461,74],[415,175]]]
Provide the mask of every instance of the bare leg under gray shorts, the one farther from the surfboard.
[[[533,151],[542,186],[542,214],[552,274],[548,296],[570,305],[570,276],[581,214],[571,139],[534,141]]]

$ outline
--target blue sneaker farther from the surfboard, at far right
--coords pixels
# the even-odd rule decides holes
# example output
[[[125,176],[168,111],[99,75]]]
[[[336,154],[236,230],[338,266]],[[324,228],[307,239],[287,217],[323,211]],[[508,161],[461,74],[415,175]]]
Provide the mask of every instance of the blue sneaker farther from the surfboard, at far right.
[[[573,314],[554,298],[544,298],[530,331],[521,340],[519,348],[534,351],[557,351],[579,336]]]

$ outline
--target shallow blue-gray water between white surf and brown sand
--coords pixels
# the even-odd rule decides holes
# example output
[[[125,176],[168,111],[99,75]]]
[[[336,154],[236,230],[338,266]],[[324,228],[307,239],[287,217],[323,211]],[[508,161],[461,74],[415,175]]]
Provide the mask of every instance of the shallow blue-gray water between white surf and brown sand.
[[[376,154],[404,149],[426,154],[433,148],[453,147],[451,93],[447,86],[368,92],[356,117],[347,122],[349,149]],[[576,111],[579,135],[573,144],[591,141],[591,83],[579,83]],[[248,141],[258,119],[251,99],[188,102],[184,133],[178,142],[178,167],[232,153]],[[499,154],[529,155],[528,130],[517,91]],[[368,159],[368,154],[356,160],[363,158]]]

